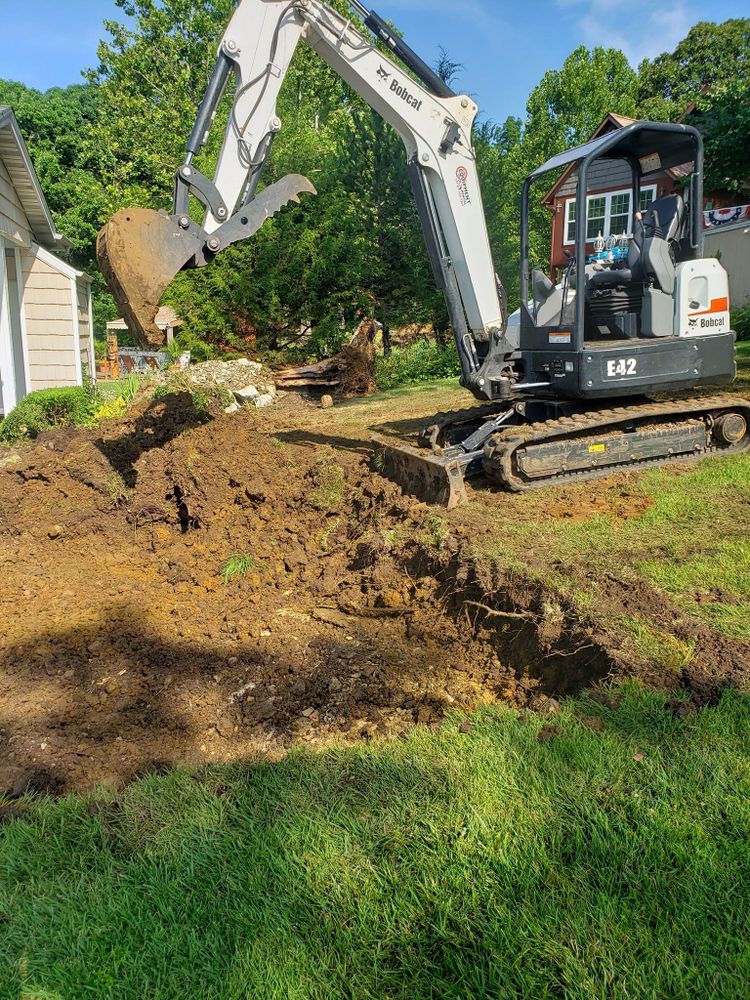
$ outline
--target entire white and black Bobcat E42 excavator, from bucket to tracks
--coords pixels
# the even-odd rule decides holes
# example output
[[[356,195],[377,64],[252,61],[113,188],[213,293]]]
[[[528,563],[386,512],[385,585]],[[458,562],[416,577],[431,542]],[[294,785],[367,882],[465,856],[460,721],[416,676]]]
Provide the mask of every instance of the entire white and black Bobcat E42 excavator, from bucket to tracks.
[[[483,404],[436,420],[412,445],[384,447],[388,474],[423,499],[456,506],[466,498],[466,477],[476,474],[524,491],[750,447],[750,401],[685,392],[736,375],[727,275],[717,260],[702,259],[700,134],[636,122],[535,170],[521,197],[521,308],[509,322],[472,147],[476,104],[453,93],[374,11],[359,0],[349,6],[356,16],[322,0],[237,4],[176,173],[172,213],[128,209],[99,237],[102,271],[136,337],[162,342],[154,318],[179,270],[209,264],[289,202],[315,193],[299,175],[259,192],[281,129],[279,89],[304,40],[403,139],[461,384]],[[232,110],[209,179],[194,159],[230,77]],[[641,204],[644,179],[670,167],[688,176],[684,197],[657,198],[634,219],[632,237],[592,254],[589,181],[613,160],[631,179],[631,205]],[[584,221],[575,256],[554,284],[530,266],[529,203],[533,183],[562,169],[576,178],[575,218]],[[202,225],[190,215],[191,198],[205,208]]]

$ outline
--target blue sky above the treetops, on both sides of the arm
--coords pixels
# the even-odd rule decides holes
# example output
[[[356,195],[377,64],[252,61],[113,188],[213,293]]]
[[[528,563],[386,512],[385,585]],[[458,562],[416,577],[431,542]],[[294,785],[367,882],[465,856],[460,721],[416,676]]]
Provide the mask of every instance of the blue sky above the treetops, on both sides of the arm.
[[[545,70],[584,43],[616,45],[633,65],[668,51],[692,24],[747,15],[747,0],[372,0],[428,62],[442,44],[466,67],[458,84],[490,117],[522,115]],[[0,0],[0,76],[46,89],[96,63],[114,0]],[[613,109],[617,110],[617,109]]]

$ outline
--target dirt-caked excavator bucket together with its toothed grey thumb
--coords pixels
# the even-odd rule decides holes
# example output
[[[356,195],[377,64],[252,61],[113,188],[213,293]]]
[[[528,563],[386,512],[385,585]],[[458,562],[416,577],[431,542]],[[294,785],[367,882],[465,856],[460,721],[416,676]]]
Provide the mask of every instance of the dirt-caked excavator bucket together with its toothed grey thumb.
[[[156,325],[159,303],[179,271],[205,267],[232,243],[256,233],[301,194],[317,194],[306,177],[288,174],[269,185],[211,234],[187,216],[148,208],[126,208],[99,233],[96,255],[128,329],[141,347],[157,349],[164,333]]]

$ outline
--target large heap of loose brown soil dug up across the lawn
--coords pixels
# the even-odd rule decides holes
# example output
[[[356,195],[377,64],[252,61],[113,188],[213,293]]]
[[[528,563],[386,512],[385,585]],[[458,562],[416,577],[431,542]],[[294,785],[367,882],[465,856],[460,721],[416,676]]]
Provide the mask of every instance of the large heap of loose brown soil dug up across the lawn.
[[[321,441],[318,412],[293,397],[206,421],[177,394],[0,450],[0,796],[396,737],[497,701],[554,713],[612,676],[700,703],[747,681],[747,648],[700,627],[690,670],[629,664],[541,585],[472,561],[473,533],[372,472],[366,442]],[[633,516],[643,498],[622,495]],[[652,616],[660,600],[610,596]]]

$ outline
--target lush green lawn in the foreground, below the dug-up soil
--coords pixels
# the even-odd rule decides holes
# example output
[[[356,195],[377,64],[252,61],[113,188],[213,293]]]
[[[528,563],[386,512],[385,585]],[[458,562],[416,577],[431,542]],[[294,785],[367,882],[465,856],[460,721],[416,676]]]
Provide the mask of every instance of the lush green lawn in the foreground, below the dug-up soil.
[[[0,997],[746,996],[750,701],[615,700],[32,803]]]

